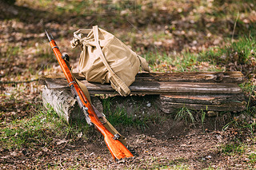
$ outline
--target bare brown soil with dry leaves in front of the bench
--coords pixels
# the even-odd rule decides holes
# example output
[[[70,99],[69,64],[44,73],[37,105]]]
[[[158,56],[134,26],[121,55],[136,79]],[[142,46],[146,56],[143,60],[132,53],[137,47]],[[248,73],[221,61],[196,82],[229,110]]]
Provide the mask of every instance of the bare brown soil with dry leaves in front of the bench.
[[[171,118],[161,125],[149,125],[144,132],[137,128],[122,129],[133,158],[114,161],[102,136],[92,132],[89,140],[58,141],[53,148],[2,150],[0,164],[2,169],[247,168],[243,164],[246,157],[231,159],[232,156],[221,152],[220,147],[230,141],[230,135],[214,130],[210,119],[205,132],[200,125],[185,125]]]

